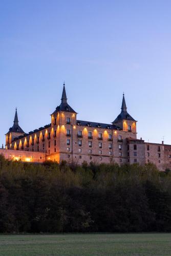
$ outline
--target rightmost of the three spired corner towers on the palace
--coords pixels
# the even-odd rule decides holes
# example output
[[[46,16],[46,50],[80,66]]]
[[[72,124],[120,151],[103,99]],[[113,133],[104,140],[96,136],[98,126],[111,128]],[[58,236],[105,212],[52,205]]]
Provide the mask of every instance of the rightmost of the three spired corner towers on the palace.
[[[123,93],[121,113],[112,122],[113,124],[119,126],[124,132],[136,134],[136,123],[137,121],[127,113],[127,107],[125,102],[125,97]]]

